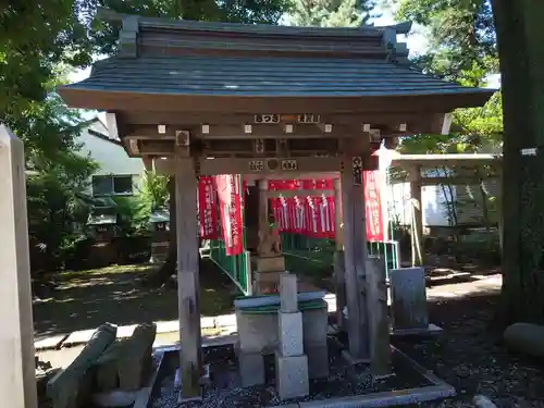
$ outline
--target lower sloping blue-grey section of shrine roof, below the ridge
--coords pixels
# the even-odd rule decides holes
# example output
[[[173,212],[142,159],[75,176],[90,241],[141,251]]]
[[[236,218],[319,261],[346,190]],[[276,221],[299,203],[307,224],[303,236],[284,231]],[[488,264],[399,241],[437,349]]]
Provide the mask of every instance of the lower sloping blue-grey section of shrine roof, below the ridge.
[[[385,60],[280,57],[141,57],[98,62],[69,88],[138,94],[371,97],[490,92]]]

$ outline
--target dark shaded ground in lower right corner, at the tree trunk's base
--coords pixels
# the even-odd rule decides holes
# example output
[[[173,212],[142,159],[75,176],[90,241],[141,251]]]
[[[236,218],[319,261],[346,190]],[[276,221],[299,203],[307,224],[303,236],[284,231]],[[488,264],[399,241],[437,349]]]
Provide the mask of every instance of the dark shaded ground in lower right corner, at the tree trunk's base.
[[[430,320],[444,329],[436,337],[405,337],[395,345],[441,379],[458,396],[425,407],[472,407],[484,394],[497,407],[544,407],[544,366],[509,353],[500,333],[490,330],[499,301],[498,290],[479,290],[454,299],[429,302]]]

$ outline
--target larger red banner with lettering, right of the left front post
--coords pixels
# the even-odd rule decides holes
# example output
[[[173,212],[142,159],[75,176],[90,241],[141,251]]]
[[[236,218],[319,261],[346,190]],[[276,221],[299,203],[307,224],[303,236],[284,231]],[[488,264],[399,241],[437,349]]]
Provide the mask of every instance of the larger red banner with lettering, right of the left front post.
[[[221,237],[225,243],[225,254],[234,256],[242,254],[242,177],[239,175],[222,174],[215,176],[219,208],[221,215]]]

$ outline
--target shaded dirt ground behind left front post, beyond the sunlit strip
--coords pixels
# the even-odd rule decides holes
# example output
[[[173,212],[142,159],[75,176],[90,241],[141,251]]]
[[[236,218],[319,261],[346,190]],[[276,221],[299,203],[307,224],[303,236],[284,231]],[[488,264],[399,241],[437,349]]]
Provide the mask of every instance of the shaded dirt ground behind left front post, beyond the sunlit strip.
[[[34,305],[35,336],[95,329],[104,322],[176,320],[176,289],[141,285],[150,271],[151,267],[123,265],[57,275],[51,297]],[[214,263],[201,262],[200,285],[202,316],[232,312],[236,286]]]

